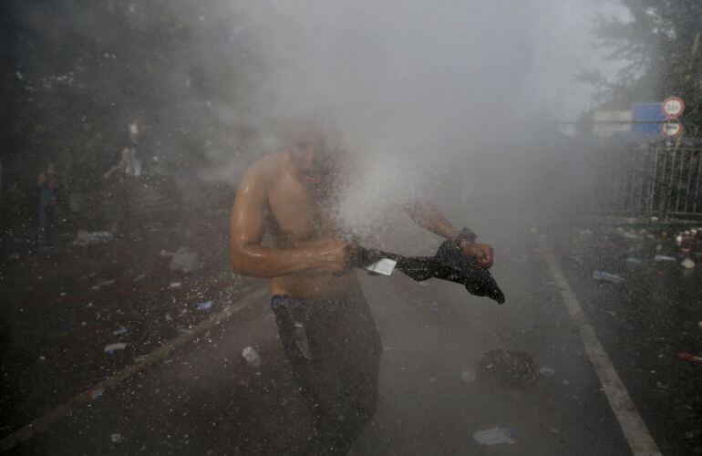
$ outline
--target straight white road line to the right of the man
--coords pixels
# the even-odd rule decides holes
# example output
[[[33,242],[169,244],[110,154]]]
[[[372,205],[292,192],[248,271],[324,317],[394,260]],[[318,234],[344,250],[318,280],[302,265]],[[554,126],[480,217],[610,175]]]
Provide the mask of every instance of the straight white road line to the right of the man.
[[[607,396],[616,419],[619,420],[619,425],[622,427],[631,451],[635,456],[660,456],[661,451],[658,449],[656,441],[651,437],[644,420],[639,415],[638,410],[636,410],[634,401],[629,397],[624,383],[622,383],[622,380],[616,373],[612,360],[607,356],[600,339],[594,333],[593,326],[583,312],[583,307],[580,306],[577,298],[573,295],[573,290],[565,279],[565,275],[563,275],[561,265],[558,264],[551,251],[545,247],[543,256],[556,280],[556,284],[558,284],[558,289],[561,291],[568,313],[580,330],[580,338],[583,340],[585,351],[593,363],[597,377],[600,378],[604,394]]]

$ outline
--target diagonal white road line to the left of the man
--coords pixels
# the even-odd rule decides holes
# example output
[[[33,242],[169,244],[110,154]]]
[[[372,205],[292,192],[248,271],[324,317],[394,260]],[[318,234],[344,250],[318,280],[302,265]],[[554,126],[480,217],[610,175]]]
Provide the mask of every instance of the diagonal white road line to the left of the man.
[[[166,358],[168,355],[170,355],[170,352],[176,348],[181,347],[195,337],[201,336],[211,329],[212,326],[219,325],[222,323],[222,321],[233,316],[246,306],[252,305],[259,299],[263,298],[264,295],[268,295],[269,293],[270,290],[267,287],[264,287],[250,293],[249,295],[243,296],[235,303],[224,307],[224,309],[218,314],[213,315],[211,318],[192,328],[192,330],[187,334],[181,334],[181,336],[170,339],[162,346],[153,350],[149,355],[139,357],[139,362],[123,368],[112,377],[106,378],[94,385],[92,388],[77,394],[71,399],[68,399],[65,404],[60,405],[56,409],[46,413],[46,415],[37,418],[36,420],[27,424],[24,428],[15,430],[15,432],[8,435],[3,440],[0,440],[0,452],[9,451],[19,443],[31,439],[36,433],[47,430],[52,424],[57,422],[57,420],[66,417],[74,409],[92,402],[104,391],[116,387],[122,380],[125,380],[137,372],[144,370],[145,368],[149,367],[150,364],[153,364],[159,359]]]

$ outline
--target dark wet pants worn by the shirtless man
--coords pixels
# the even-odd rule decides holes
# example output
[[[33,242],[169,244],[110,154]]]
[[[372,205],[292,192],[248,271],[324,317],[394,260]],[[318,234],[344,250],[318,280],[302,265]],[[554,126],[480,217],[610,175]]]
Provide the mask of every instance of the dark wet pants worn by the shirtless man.
[[[345,454],[372,419],[382,346],[360,291],[344,298],[273,296],[287,358],[315,420],[309,452]]]

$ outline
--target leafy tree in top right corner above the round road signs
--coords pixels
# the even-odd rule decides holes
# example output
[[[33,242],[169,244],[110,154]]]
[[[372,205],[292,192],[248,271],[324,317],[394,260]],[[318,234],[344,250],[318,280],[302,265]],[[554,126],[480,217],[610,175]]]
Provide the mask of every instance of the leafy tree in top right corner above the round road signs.
[[[687,109],[682,119],[691,136],[702,134],[702,2],[699,0],[619,0],[629,18],[601,17],[597,36],[609,57],[628,62],[614,81],[596,72],[602,94],[612,104],[662,100],[676,95]]]

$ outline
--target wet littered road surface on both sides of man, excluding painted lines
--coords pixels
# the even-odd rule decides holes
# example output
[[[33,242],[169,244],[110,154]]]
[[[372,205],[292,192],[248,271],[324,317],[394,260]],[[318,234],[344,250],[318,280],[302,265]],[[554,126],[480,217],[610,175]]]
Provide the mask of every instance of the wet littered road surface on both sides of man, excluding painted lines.
[[[702,348],[702,295],[696,285],[702,272],[648,262],[656,254],[656,239],[639,242],[609,235],[609,230],[550,234],[546,244],[660,450],[666,455],[699,453],[702,365],[677,358],[677,353],[698,354]],[[503,306],[469,296],[459,285],[362,275],[384,351],[377,414],[356,440],[353,454],[631,453],[544,262],[543,243],[539,233],[495,243],[500,250],[493,272],[508,297]],[[669,244],[665,248],[675,253]],[[627,263],[632,254],[646,261]],[[13,303],[14,313],[4,318],[14,325],[15,335],[23,321],[33,321],[49,334],[27,339],[22,346],[26,358],[13,357],[16,364],[10,368],[4,360],[7,375],[15,376],[4,392],[5,404],[15,410],[4,413],[4,436],[184,334],[178,327],[207,321],[264,286],[263,281],[232,282],[223,264],[217,264],[200,275],[183,276],[176,290],[170,289],[172,276],[154,273],[151,285],[139,285],[120,298],[120,303],[140,304],[119,306],[131,315],[132,325],[119,337],[112,335],[123,326],[119,314],[107,312],[113,316],[99,331],[80,329],[87,320],[82,297],[71,301],[75,305],[68,300],[46,305],[79,309],[57,314],[61,317],[55,324],[67,325],[66,334],[46,326],[50,322],[37,316],[41,313],[27,319],[17,309],[19,303]],[[595,282],[594,269],[622,275],[625,282]],[[126,280],[118,277],[115,286]],[[203,288],[207,280],[212,285]],[[148,298],[137,298],[139,290]],[[58,297],[67,299],[69,292]],[[211,296],[215,308],[198,312],[200,299]],[[94,306],[114,306],[114,296],[102,299],[93,300]],[[165,304],[156,306],[156,301]],[[181,316],[183,308],[187,312]],[[94,316],[96,310],[90,309]],[[47,351],[52,337],[65,340],[57,346],[62,348]],[[16,340],[13,350],[19,350]],[[129,348],[109,356],[103,352],[106,343],[119,340]],[[246,346],[258,350],[261,368],[249,368],[243,360]],[[506,381],[492,370],[500,369],[488,358],[495,350],[526,353],[536,369],[552,372]],[[45,359],[37,361],[44,353]],[[61,353],[66,353],[63,359]],[[76,364],[77,358],[85,358],[85,364]],[[41,370],[46,361],[53,367]],[[305,448],[310,426],[264,297],[88,402],[66,410],[46,431],[8,453],[294,454]],[[510,443],[478,441],[477,432],[494,428]]]

